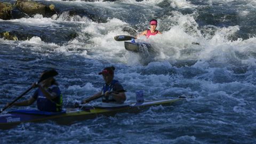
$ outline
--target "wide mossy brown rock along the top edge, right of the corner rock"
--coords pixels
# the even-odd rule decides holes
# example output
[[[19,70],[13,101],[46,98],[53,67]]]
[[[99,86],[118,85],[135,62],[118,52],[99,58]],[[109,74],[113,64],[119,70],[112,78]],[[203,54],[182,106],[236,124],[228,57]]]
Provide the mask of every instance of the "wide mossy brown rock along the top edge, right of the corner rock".
[[[42,14],[44,17],[51,17],[53,14],[57,13],[53,4],[47,6],[28,0],[17,0],[16,5],[20,11],[28,14],[29,16]]]

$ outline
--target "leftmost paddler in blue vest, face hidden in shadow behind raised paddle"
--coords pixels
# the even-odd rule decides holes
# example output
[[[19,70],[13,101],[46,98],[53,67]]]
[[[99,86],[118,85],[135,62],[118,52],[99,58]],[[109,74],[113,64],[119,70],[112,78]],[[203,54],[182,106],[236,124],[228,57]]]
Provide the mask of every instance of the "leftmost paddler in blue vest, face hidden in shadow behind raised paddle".
[[[48,70],[43,71],[41,77]],[[47,78],[41,83],[33,83],[33,89],[38,87],[33,96],[28,100],[14,102],[13,106],[30,106],[37,101],[37,109],[42,111],[58,112],[62,109],[62,94],[58,87],[58,83],[53,77]],[[6,106],[8,106],[7,103]]]

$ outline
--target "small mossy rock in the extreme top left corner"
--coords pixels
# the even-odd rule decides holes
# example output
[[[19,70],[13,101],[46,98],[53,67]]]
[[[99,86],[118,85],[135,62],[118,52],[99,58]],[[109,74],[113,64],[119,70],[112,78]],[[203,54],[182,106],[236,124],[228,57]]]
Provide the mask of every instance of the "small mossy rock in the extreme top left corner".
[[[10,20],[12,18],[13,5],[0,2],[0,19]]]

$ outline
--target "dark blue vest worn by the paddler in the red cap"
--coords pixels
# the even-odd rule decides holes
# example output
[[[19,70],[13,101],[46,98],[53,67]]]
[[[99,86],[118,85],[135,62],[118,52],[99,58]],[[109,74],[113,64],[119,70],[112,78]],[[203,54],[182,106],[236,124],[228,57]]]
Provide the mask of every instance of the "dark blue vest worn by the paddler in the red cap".
[[[115,84],[119,83],[118,81],[116,81],[115,79],[113,79],[111,81],[111,83],[109,85],[107,85],[106,83],[103,85],[102,88],[102,95],[105,94],[106,91],[112,92],[115,90]],[[116,100],[112,97],[112,95],[110,94],[107,98],[106,97],[102,97],[102,102],[116,102]]]

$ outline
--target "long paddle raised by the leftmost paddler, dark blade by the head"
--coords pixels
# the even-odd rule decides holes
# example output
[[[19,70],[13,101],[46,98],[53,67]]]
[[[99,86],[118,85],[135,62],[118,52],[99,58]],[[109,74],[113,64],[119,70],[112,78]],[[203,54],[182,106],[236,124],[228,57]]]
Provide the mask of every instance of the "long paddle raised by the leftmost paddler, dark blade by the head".
[[[51,70],[49,70],[49,71],[46,71],[46,72],[39,78],[39,80],[38,80],[37,83],[39,84],[39,83],[43,82],[45,79],[50,78],[50,77],[54,77],[54,76],[57,76],[57,75],[58,75],[58,72],[57,72],[56,70],[54,70],[54,69],[51,69]],[[11,103],[9,103],[8,106],[5,106],[4,108],[2,108],[2,109],[0,110],[0,114],[1,114],[5,109],[11,107],[14,102],[16,102],[16,101],[19,100],[21,97],[23,97],[23,95],[25,95],[26,93],[28,93],[31,89],[33,89],[33,86],[30,86],[30,88],[29,88],[27,91],[23,92],[18,98],[16,98],[16,99],[13,100]]]

